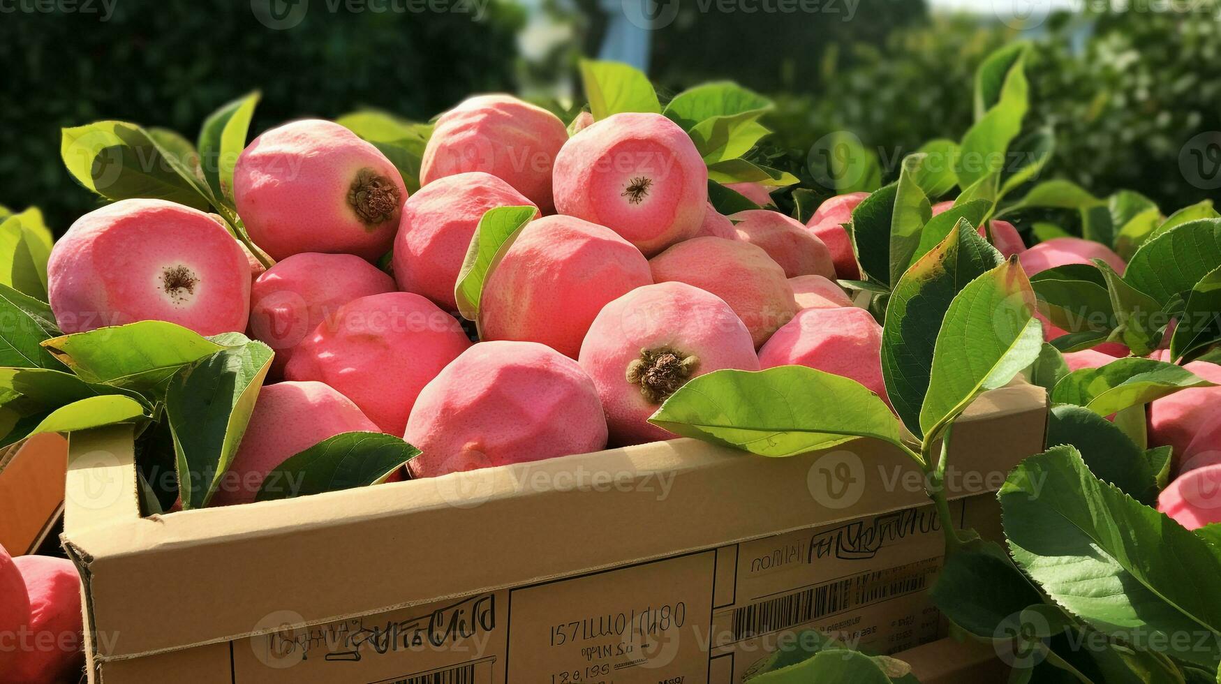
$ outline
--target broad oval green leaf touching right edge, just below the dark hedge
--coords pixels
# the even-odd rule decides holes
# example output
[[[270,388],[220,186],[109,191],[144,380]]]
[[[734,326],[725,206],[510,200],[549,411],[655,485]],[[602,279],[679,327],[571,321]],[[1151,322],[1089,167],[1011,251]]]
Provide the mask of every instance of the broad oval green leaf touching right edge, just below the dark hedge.
[[[1221,219],[1201,219],[1176,226],[1140,246],[1123,280],[1167,304],[1219,266]]]

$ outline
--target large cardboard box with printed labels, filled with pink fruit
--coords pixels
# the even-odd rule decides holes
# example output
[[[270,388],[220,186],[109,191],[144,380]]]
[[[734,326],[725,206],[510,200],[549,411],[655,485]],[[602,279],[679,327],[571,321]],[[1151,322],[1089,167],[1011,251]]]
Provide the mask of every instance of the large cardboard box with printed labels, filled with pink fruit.
[[[958,523],[1043,448],[1044,391],[955,428]],[[767,459],[674,440],[140,518],[126,428],[70,440],[66,533],[92,682],[728,684],[818,627],[944,635],[918,469],[857,440]]]

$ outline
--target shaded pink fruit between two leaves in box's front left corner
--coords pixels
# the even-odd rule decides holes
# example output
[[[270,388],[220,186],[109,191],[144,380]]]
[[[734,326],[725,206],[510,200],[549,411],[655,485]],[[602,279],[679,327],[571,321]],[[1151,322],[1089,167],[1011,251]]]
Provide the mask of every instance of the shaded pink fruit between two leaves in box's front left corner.
[[[253,502],[267,473],[327,437],[377,431],[352,399],[321,382],[264,385],[210,506]]]

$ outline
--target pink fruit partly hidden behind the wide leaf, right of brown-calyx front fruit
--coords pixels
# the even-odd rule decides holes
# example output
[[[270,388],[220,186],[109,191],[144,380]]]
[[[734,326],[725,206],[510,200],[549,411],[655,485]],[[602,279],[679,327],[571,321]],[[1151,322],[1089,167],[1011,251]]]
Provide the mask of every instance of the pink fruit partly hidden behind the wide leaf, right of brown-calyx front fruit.
[[[851,377],[886,403],[882,326],[857,307],[805,309],[759,349],[759,366],[803,365]]]

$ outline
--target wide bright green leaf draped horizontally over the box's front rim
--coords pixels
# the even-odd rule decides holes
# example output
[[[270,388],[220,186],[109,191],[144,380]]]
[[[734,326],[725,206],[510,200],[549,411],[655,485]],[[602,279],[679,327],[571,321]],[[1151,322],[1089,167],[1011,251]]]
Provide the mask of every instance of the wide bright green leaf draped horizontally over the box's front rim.
[[[799,365],[701,375],[665,399],[650,423],[770,457],[855,437],[901,445],[899,421],[875,393],[855,380]]]

